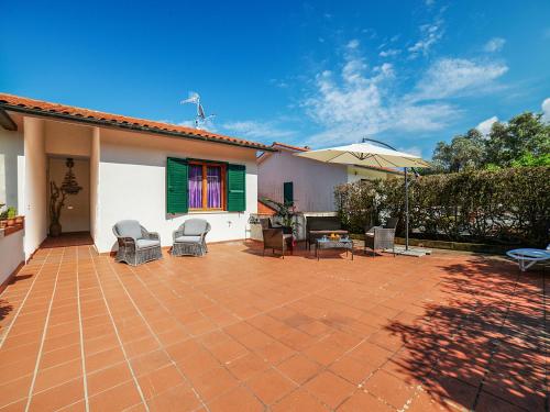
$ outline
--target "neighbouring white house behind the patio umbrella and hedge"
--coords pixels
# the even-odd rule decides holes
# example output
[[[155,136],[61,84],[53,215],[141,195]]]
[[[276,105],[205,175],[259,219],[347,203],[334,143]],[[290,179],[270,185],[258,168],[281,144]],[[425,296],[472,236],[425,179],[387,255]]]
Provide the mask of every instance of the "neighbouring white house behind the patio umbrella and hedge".
[[[334,187],[359,180],[394,179],[402,172],[394,169],[328,164],[294,156],[309,147],[275,142],[277,152],[264,152],[257,158],[260,199],[293,201],[300,212],[333,212]]]

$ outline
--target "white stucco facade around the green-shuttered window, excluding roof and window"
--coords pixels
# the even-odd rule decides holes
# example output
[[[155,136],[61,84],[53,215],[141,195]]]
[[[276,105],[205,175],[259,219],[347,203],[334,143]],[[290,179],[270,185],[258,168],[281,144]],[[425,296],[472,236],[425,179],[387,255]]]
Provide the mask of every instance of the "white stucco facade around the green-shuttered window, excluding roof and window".
[[[47,236],[48,179],[59,178],[58,164],[66,157],[77,160],[76,177],[86,188],[87,204],[84,207],[76,199],[68,201],[66,208],[73,209],[64,211],[62,224],[70,231],[89,231],[100,253],[117,248],[112,226],[125,219],[135,219],[147,230],[158,232],[163,246],[172,245],[173,231],[190,218],[210,222],[208,242],[245,237],[250,213],[257,210],[254,147],[82,125],[9,111],[8,114],[18,130],[0,127],[0,202],[6,200],[25,215],[26,258]],[[167,214],[167,157],[244,165],[245,210]],[[88,168],[86,172],[82,165]]]

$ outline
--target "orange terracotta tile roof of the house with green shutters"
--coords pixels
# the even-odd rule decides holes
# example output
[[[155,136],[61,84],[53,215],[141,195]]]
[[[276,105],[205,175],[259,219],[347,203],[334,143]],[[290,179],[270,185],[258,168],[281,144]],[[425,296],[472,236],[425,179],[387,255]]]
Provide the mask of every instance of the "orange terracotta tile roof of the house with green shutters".
[[[77,108],[74,105],[66,105],[59,103],[52,103],[42,100],[29,99],[20,96],[13,96],[8,93],[0,93],[0,109],[14,110],[24,109],[24,111],[35,112],[35,114],[63,114],[75,119],[75,121],[80,121],[81,119],[87,119],[90,121],[96,121],[100,123],[111,123],[118,126],[133,126],[145,129],[147,132],[155,133],[158,131],[170,132],[176,134],[182,134],[187,137],[199,137],[213,142],[237,144],[242,146],[248,146],[251,148],[256,148],[260,151],[270,151],[271,147],[261,143],[245,141],[242,138],[226,136],[222,134],[211,133],[204,130],[197,130],[186,126],[179,126],[169,123],[155,122],[146,119],[138,119],[125,116],[121,114],[105,113],[96,110]]]

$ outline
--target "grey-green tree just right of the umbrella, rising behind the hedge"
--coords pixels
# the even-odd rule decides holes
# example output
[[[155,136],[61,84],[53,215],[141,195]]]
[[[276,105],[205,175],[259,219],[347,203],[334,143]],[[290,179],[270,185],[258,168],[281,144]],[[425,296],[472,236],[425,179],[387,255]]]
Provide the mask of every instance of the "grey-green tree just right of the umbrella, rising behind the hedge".
[[[483,135],[476,129],[454,136],[451,144],[439,142],[433,151],[433,162],[439,171],[462,171],[480,168],[484,159]]]

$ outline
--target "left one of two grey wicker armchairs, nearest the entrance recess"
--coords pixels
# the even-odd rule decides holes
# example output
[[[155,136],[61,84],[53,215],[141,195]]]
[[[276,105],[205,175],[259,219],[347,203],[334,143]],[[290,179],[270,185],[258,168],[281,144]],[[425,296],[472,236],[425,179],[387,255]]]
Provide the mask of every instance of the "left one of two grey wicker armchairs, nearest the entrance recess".
[[[158,233],[148,232],[140,225],[140,222],[132,220],[117,222],[112,226],[112,232],[119,245],[116,261],[138,266],[163,257]]]

